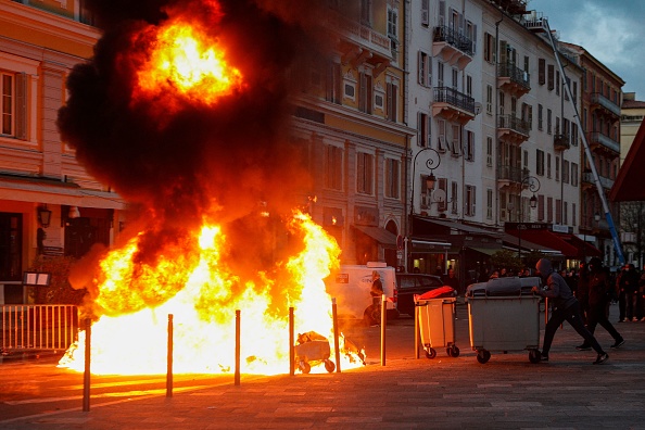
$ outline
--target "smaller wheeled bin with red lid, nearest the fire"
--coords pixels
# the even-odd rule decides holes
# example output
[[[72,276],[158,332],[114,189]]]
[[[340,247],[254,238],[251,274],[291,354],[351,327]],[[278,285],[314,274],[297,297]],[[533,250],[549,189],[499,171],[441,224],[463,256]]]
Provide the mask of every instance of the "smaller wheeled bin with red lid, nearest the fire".
[[[427,358],[437,356],[435,347],[445,347],[451,357],[459,356],[455,344],[455,298],[421,299],[415,294],[421,343]]]

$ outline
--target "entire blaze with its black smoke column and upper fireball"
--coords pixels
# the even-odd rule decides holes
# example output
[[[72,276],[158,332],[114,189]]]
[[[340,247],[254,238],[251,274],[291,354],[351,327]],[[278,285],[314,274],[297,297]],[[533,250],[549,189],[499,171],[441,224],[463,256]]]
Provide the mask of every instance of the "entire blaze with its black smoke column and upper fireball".
[[[318,5],[88,1],[103,36],[58,125],[131,206],[117,245],[71,276],[89,291],[92,372],[163,374],[168,314],[176,372],[230,371],[236,309],[243,372],[289,368],[289,307],[298,331],[332,339],[322,279],[340,250],[302,212],[307,148],[289,136],[294,77],[324,56]],[[84,336],[61,365],[84,368]],[[345,344],[342,368],[359,366]]]

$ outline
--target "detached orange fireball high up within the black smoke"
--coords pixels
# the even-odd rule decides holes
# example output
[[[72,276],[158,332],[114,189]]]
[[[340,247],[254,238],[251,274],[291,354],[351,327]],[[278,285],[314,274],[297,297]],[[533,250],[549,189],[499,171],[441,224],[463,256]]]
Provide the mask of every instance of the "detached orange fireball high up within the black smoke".
[[[243,87],[242,74],[227,63],[224,48],[194,24],[176,20],[160,27],[154,39],[137,75],[147,98],[170,91],[214,104]]]

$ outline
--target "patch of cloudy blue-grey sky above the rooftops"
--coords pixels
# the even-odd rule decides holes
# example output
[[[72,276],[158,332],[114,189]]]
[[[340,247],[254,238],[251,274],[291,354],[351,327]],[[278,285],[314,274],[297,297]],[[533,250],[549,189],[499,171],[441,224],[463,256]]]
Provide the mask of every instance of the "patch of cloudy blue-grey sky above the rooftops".
[[[625,81],[623,92],[645,100],[645,1],[530,0],[560,40],[580,45]]]

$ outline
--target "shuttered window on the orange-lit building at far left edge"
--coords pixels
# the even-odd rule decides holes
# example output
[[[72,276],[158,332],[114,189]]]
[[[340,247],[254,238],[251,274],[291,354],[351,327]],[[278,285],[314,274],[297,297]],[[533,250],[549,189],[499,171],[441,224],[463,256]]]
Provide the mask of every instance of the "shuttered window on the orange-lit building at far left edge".
[[[0,72],[0,135],[27,138],[26,74]]]

